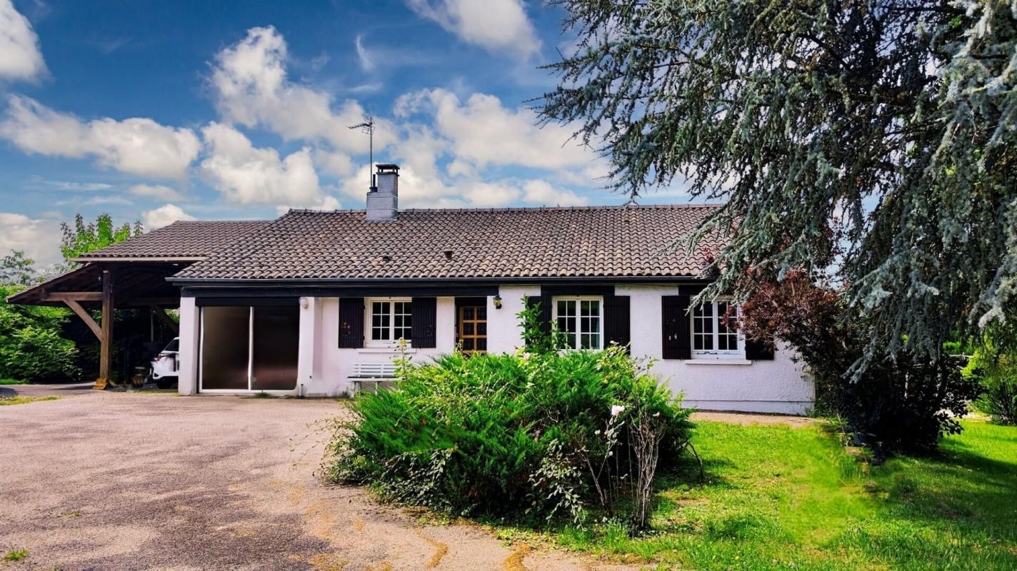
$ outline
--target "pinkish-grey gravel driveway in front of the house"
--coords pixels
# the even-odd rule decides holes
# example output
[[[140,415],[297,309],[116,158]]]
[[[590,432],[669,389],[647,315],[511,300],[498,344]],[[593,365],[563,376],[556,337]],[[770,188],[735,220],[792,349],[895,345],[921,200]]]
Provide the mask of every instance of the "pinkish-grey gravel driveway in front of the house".
[[[314,475],[332,400],[76,391],[0,407],[18,569],[622,569],[424,525]]]

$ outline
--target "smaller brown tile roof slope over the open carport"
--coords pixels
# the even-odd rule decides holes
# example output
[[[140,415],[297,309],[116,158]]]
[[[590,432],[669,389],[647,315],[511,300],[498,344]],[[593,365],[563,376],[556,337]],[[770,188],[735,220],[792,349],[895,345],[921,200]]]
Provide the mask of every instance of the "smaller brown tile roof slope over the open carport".
[[[272,220],[193,220],[170,226],[88,252],[95,258],[194,258],[210,256],[271,224]]]

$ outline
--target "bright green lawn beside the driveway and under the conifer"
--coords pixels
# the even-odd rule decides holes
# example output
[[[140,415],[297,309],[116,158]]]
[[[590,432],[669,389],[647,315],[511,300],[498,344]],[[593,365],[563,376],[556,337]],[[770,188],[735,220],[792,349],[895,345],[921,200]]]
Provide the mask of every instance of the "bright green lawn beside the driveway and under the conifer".
[[[818,427],[698,423],[707,480],[661,483],[653,534],[551,537],[660,568],[1017,569],[1017,428],[964,427],[941,454],[868,469]]]

